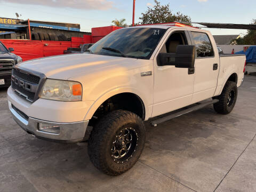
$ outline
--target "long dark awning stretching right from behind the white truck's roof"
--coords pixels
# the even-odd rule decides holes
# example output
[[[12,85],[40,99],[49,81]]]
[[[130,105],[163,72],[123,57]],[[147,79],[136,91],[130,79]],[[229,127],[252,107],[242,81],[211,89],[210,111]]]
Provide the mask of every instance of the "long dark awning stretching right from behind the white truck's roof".
[[[180,22],[180,21],[179,21]],[[208,22],[180,22],[180,23],[195,23],[207,28],[217,28],[217,29],[249,29],[256,30],[256,25],[252,24],[234,24],[234,23],[208,23]]]

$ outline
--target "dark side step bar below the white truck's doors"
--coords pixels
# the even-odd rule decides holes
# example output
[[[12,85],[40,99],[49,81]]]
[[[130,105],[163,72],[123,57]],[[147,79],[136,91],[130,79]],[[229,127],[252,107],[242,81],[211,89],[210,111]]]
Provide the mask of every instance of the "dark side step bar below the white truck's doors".
[[[156,127],[157,124],[159,124],[159,123],[163,123],[163,122],[169,121],[170,119],[173,119],[175,117],[179,117],[181,115],[185,115],[185,114],[190,113],[192,111],[195,111],[195,110],[198,110],[198,109],[202,109],[202,108],[204,108],[204,107],[206,107],[208,105],[211,105],[211,104],[217,103],[217,102],[219,102],[218,99],[213,99],[212,101],[208,101],[208,102],[205,102],[205,103],[198,104],[197,106],[190,107],[188,109],[179,111],[177,113],[174,113],[174,114],[171,114],[171,115],[168,115],[168,116],[156,119],[155,121],[151,122],[151,125]]]

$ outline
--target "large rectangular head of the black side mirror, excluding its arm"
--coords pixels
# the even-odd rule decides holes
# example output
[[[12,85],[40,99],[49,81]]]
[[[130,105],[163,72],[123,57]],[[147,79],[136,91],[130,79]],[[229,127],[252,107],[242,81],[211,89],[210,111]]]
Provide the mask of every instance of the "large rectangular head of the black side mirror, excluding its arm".
[[[178,45],[175,55],[175,67],[195,68],[195,45]]]

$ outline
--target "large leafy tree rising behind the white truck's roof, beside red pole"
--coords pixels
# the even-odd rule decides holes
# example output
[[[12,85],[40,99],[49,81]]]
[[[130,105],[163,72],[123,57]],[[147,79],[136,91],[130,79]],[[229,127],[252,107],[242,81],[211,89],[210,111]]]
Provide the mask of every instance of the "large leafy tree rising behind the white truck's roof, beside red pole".
[[[166,23],[174,21],[186,21],[191,22],[191,18],[188,15],[180,12],[172,13],[170,10],[170,4],[161,5],[157,0],[155,5],[151,8],[148,6],[146,13],[141,13],[142,16],[139,18],[141,24],[153,24],[153,23]]]

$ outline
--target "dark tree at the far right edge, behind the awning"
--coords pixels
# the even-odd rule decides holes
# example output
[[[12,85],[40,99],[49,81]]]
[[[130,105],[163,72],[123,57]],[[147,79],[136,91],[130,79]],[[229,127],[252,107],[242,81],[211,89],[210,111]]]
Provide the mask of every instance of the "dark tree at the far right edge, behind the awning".
[[[252,25],[256,25],[256,19],[252,20]],[[234,39],[238,45],[255,45],[256,44],[256,30],[247,30],[247,34],[244,37]]]

